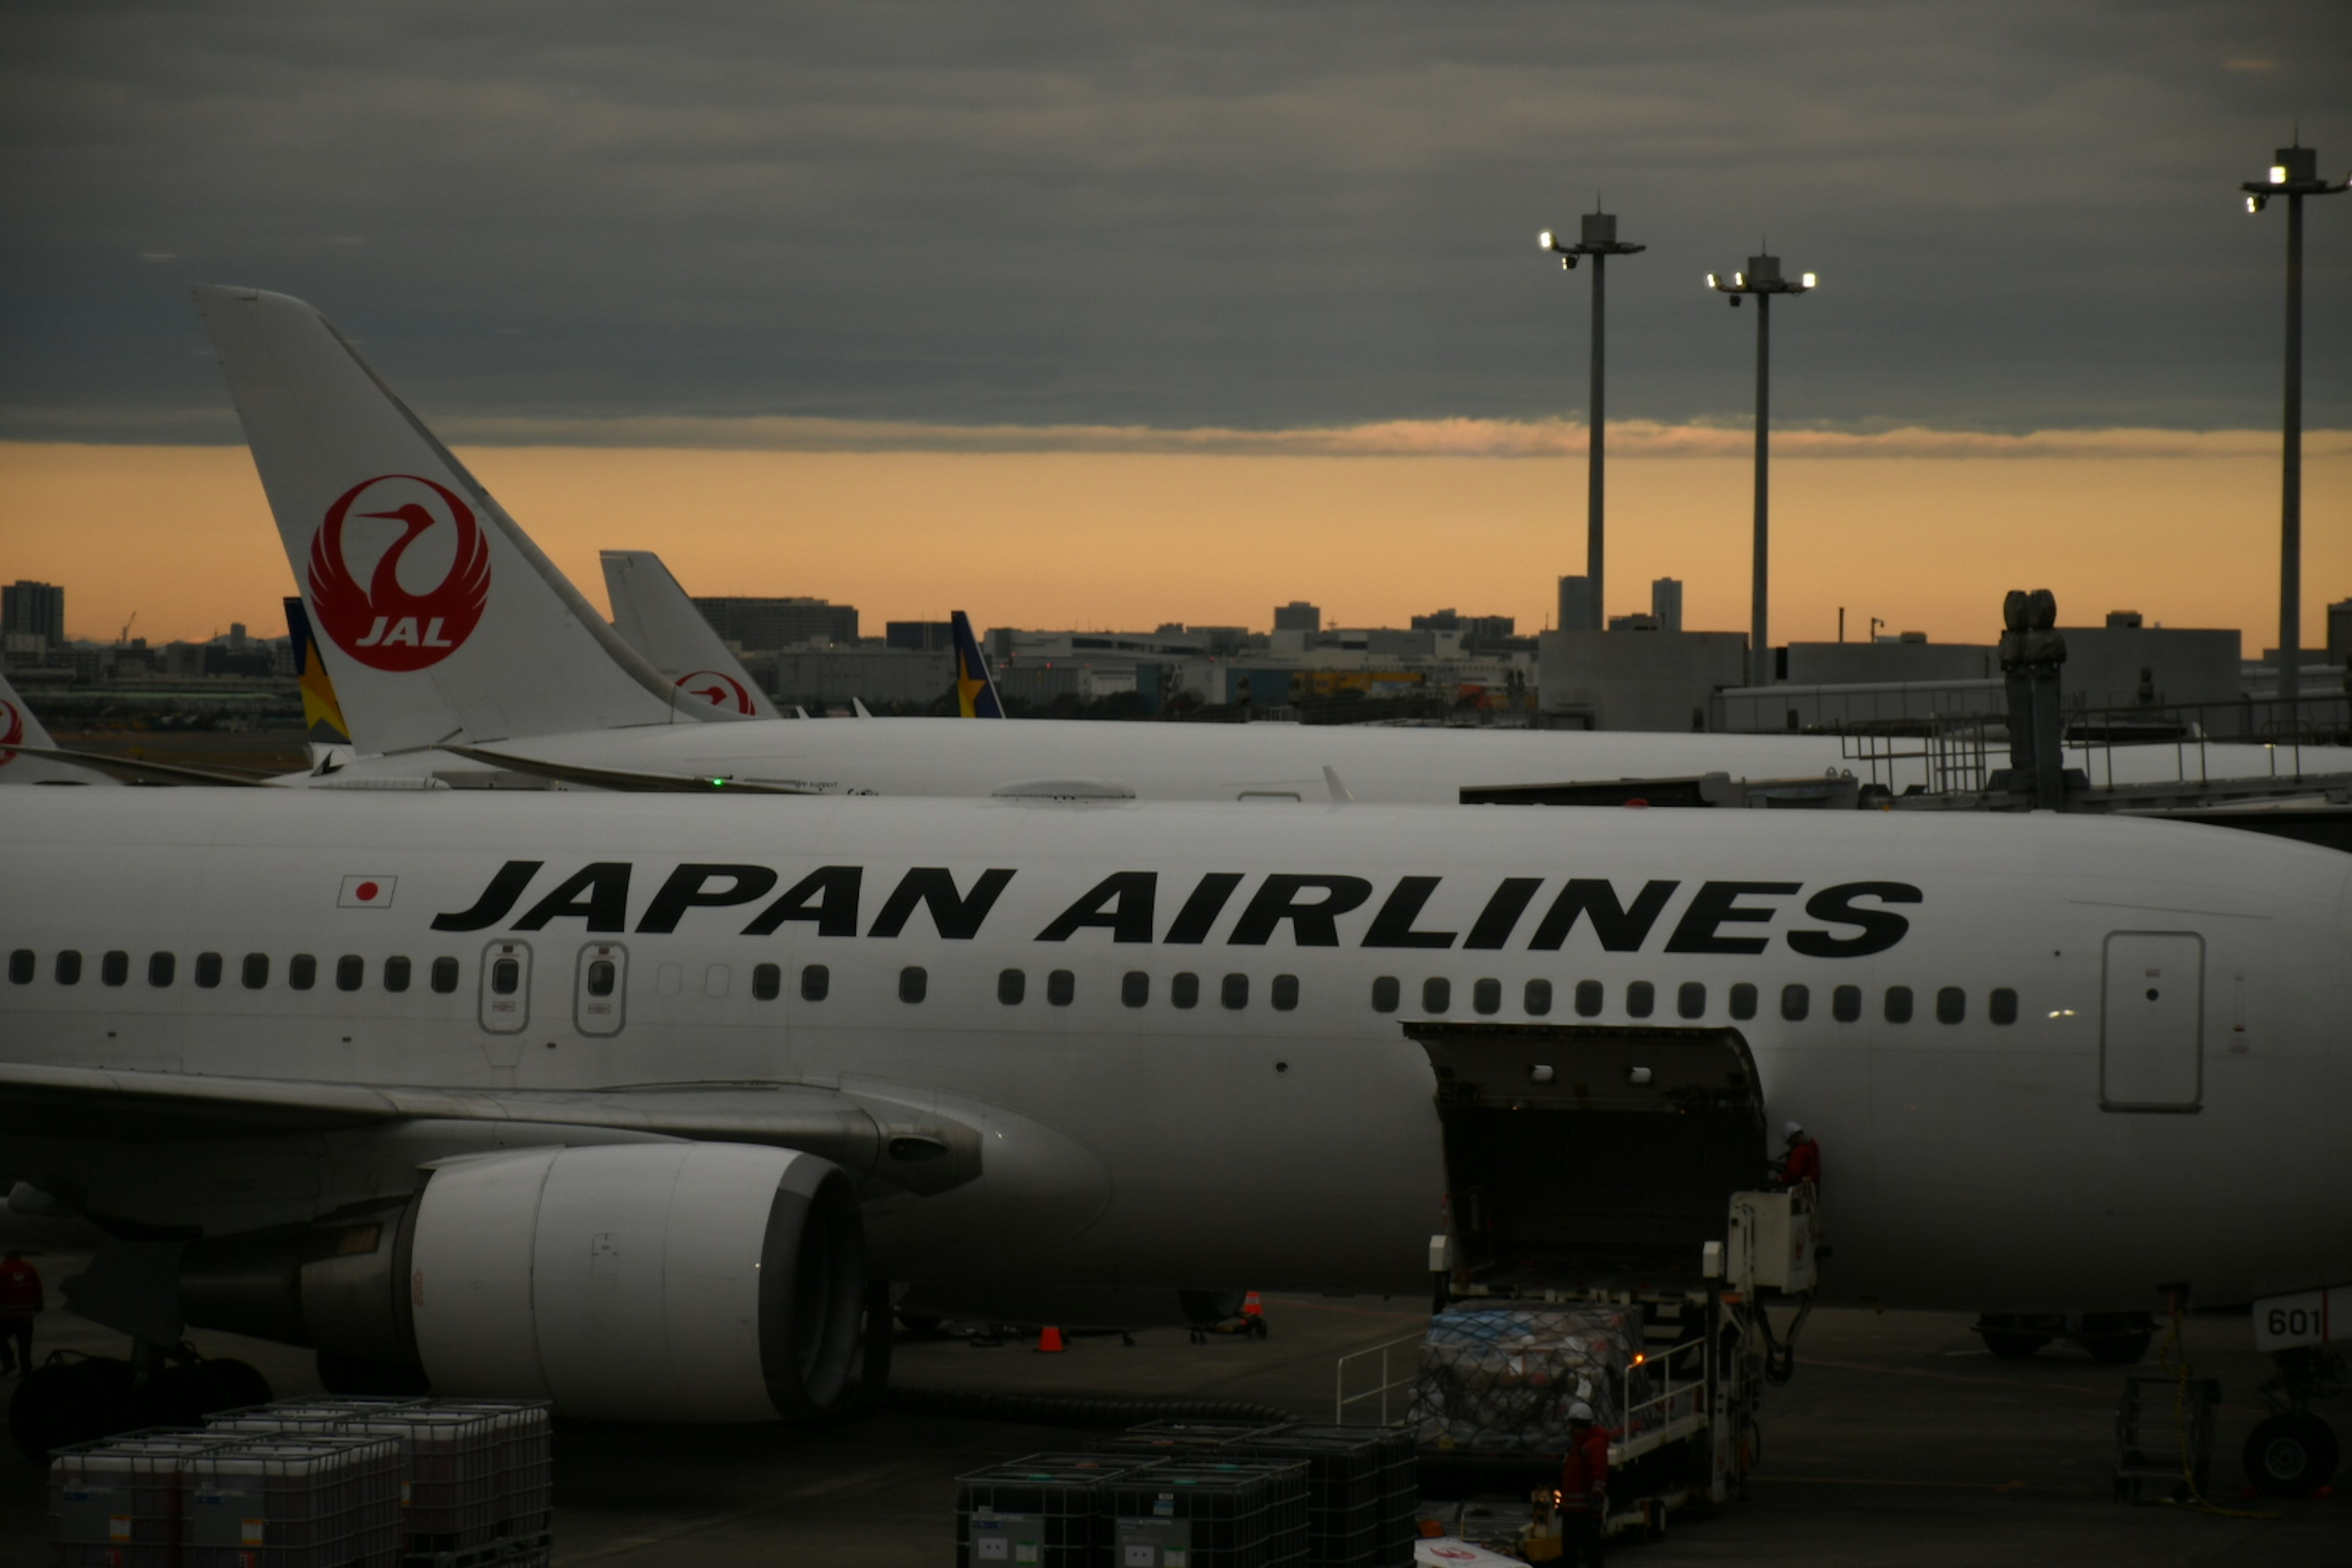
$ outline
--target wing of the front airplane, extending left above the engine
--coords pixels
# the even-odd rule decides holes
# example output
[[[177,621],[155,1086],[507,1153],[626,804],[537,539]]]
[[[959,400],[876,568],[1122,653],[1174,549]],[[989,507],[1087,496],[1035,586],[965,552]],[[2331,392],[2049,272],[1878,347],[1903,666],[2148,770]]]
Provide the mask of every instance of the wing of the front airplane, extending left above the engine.
[[[978,1128],[873,1093],[807,1084],[407,1088],[113,1067],[0,1065],[0,1135],[101,1143],[332,1133],[388,1121],[593,1126],[823,1154],[863,1180],[946,1192],[981,1173]]]

